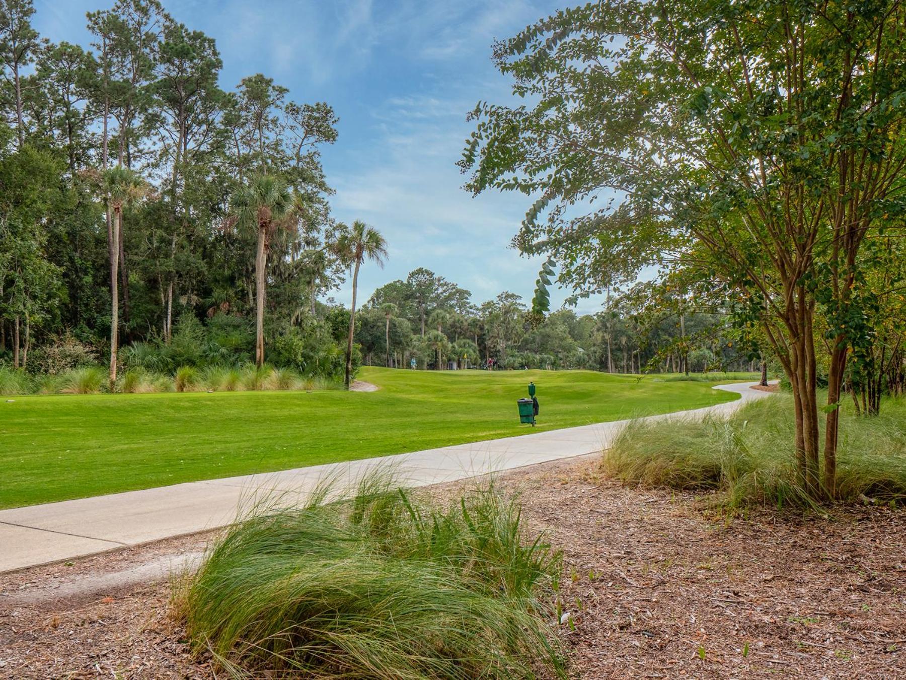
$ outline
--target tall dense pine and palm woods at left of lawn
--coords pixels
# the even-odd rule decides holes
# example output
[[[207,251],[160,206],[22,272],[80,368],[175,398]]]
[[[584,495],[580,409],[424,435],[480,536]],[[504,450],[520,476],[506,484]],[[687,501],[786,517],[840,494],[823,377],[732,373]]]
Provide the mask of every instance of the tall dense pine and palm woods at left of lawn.
[[[89,45],[42,39],[33,14],[0,3],[2,360],[46,368],[44,348],[79,344],[111,377],[241,363],[266,306],[270,343],[342,372],[316,302],[350,265],[326,248],[343,230],[319,159],[332,108],[261,73],[221,89],[215,41],[156,0],[87,15]]]

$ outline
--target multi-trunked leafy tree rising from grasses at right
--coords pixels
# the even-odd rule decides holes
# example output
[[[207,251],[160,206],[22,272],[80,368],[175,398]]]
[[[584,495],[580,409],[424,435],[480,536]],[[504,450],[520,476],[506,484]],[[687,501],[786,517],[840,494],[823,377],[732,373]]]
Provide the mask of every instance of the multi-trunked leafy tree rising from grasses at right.
[[[461,161],[473,192],[535,197],[516,244],[553,254],[561,283],[681,266],[739,301],[792,384],[814,496],[834,494],[847,355],[867,331],[859,253],[904,209],[904,34],[896,0],[557,12],[496,44],[527,103],[479,104]]]

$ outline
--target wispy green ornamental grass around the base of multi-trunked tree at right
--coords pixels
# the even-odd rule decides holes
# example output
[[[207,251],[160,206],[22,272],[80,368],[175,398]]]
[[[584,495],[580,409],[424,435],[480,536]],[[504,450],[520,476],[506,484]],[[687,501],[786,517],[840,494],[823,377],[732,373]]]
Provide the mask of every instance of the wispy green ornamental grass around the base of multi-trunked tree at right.
[[[837,500],[906,501],[906,402],[888,400],[870,418],[844,408],[840,433]],[[728,418],[630,423],[602,471],[647,487],[718,491],[729,507],[814,508],[796,479],[794,436],[792,397],[777,394]]]

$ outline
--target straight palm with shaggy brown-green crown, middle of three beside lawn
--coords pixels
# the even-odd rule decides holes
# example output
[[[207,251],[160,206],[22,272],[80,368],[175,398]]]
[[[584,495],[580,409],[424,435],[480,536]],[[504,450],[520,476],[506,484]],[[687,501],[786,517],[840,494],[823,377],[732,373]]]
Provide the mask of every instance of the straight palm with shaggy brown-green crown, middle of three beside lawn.
[[[257,175],[236,189],[230,212],[240,228],[254,230],[255,249],[255,364],[265,364],[265,283],[270,241],[285,228],[295,214],[293,195],[283,180],[273,175]]]

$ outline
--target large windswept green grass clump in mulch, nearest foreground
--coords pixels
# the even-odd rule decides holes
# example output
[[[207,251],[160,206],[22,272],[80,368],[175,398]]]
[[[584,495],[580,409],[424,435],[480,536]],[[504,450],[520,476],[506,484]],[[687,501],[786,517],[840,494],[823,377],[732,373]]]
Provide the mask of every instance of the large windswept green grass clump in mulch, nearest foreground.
[[[439,507],[372,477],[352,496],[259,507],[176,597],[196,654],[231,675],[565,677],[561,557],[493,487]]]

